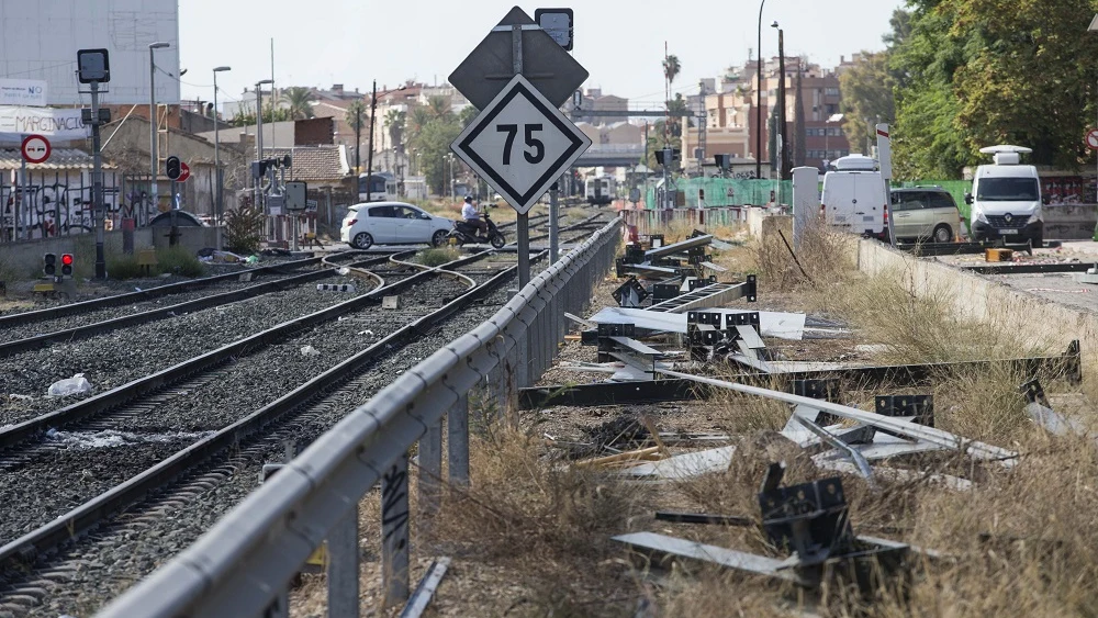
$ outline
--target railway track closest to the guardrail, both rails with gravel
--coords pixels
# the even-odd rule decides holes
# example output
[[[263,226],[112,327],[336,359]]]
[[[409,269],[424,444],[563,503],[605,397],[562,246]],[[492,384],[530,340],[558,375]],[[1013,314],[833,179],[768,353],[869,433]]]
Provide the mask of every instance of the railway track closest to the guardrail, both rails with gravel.
[[[261,469],[272,458],[278,460],[287,440],[299,445],[312,441],[338,420],[344,411],[368,398],[394,374],[492,315],[497,304],[506,300],[501,286],[515,276],[515,256],[495,251],[440,267],[407,262],[402,257],[406,256],[390,257],[392,267],[415,268],[416,274],[0,430],[3,480],[0,482],[9,487],[19,485],[18,493],[23,496],[20,499],[18,495],[9,495],[10,498],[25,507],[27,494],[41,494],[44,486],[68,485],[79,490],[57,496],[45,510],[24,508],[38,512],[40,516],[24,517],[18,529],[12,525],[0,528],[0,616],[4,611],[34,615],[35,607],[45,611],[43,616],[55,616],[59,606],[43,605],[48,594],[44,591],[65,587],[64,582],[70,581],[75,573],[87,571],[86,559],[99,551],[94,548],[111,548],[119,542],[125,546],[138,531],[152,539],[152,553],[144,550],[143,553],[168,555],[182,549],[193,540],[191,532],[197,537],[254,487],[255,476],[245,471]],[[435,295],[439,290],[444,293],[448,290],[452,300],[441,306],[421,303],[416,305],[418,311],[396,314],[381,326],[383,336],[365,349],[348,348],[354,351],[347,356],[333,353],[335,360],[329,360],[323,370],[300,373],[315,378],[304,382],[291,380],[274,387],[256,382],[272,363],[290,360],[282,352],[301,356],[299,345],[323,327],[322,323],[346,335],[363,325],[377,324],[367,322],[367,316],[379,312],[363,310],[372,308],[381,296],[395,293],[411,299],[416,290],[432,290]],[[491,302],[484,304],[485,301]],[[277,339],[279,336],[289,338]],[[258,369],[242,371],[240,367]],[[294,368],[289,369],[292,372]],[[277,398],[251,405],[231,396],[234,387],[249,383],[266,392],[268,400]],[[206,404],[202,402],[210,400],[219,401],[220,405],[213,405],[213,413],[205,414]],[[240,412],[248,409],[255,412]],[[122,454],[104,456],[112,450]],[[59,465],[66,458],[71,461]],[[74,470],[82,471],[76,483],[71,477]],[[45,483],[37,490],[24,484],[32,479],[45,479]],[[212,490],[217,487],[222,487],[224,496],[215,496],[219,492]],[[3,491],[0,485],[0,492]],[[203,499],[192,499],[194,496]],[[5,502],[10,501],[0,504]],[[134,513],[136,505],[141,506]],[[193,510],[194,520],[202,524],[179,529],[176,515],[188,508]],[[127,509],[131,509],[128,515],[119,516]],[[11,521],[9,516],[0,517],[0,521],[5,519]],[[108,519],[112,524],[105,525]],[[153,531],[169,520],[175,521],[169,526],[171,530]],[[57,553],[96,527],[101,531],[72,546],[85,550]],[[21,536],[9,540],[13,535]],[[166,544],[157,546],[160,540]],[[89,546],[92,549],[87,549]],[[104,563],[92,560],[93,564]],[[155,563],[138,559],[130,566],[143,571],[137,574],[141,576]],[[126,580],[124,585],[128,583]],[[110,586],[111,580],[89,577],[85,584]],[[109,597],[107,594],[99,599]]]

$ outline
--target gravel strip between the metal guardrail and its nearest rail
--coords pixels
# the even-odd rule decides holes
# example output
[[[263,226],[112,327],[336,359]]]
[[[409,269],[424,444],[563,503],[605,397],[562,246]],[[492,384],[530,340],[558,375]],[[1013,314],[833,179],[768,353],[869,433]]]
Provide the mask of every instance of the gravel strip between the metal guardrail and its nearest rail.
[[[248,461],[237,473],[217,486],[188,499],[186,506],[172,510],[170,516],[158,518],[139,533],[125,528],[81,541],[64,552],[53,564],[75,561],[81,564],[71,578],[51,591],[45,603],[33,608],[29,616],[57,618],[66,613],[88,616],[105,605],[133,582],[149,574],[157,565],[197,540],[216,520],[256,488],[262,464],[282,461],[281,440],[292,437],[303,448],[337,423],[348,411],[365,403],[392,378],[434,353],[448,341],[468,333],[489,318],[503,303],[506,292],[500,291],[481,305],[467,308],[444,323],[427,337],[401,350],[401,353],[367,370],[363,378],[332,393],[315,407],[330,409],[314,416],[309,423],[283,425],[268,439],[262,457]],[[373,548],[373,551],[380,551]]]

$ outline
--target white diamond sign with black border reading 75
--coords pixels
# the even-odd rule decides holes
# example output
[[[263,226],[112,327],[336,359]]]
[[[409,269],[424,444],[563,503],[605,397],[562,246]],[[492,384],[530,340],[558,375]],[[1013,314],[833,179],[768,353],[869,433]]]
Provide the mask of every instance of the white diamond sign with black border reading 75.
[[[517,75],[450,148],[522,214],[589,146],[591,139]]]

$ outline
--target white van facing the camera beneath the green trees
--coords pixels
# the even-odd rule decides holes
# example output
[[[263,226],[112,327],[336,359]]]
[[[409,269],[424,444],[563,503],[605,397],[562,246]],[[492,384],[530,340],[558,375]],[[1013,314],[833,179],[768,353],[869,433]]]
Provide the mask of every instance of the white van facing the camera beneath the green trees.
[[[1033,166],[1020,165],[1022,146],[988,146],[981,153],[993,155],[994,165],[979,166],[972,181],[972,193],[964,201],[972,206],[968,229],[973,240],[1009,239],[1044,243],[1044,216],[1041,213],[1041,180]]]

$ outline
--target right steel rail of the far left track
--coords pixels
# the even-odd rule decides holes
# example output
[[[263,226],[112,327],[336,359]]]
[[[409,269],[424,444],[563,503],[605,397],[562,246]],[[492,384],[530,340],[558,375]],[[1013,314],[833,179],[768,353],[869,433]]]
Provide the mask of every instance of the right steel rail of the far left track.
[[[386,260],[386,257],[377,257],[369,260],[362,260],[359,262],[352,262],[356,266],[372,265]],[[292,288],[294,285],[301,285],[302,283],[309,283],[311,281],[316,281],[317,279],[324,279],[326,277],[332,277],[335,274],[334,270],[316,270],[313,272],[305,272],[303,274],[295,274],[285,279],[278,279],[274,281],[267,281],[264,283],[257,283],[255,285],[249,285],[240,290],[233,290],[231,292],[222,292],[220,294],[211,294],[209,296],[203,296],[201,299],[194,299],[193,301],[187,301],[183,303],[159,307],[152,311],[146,311],[142,313],[134,313],[130,315],[123,315],[120,317],[104,319],[102,322],[96,322],[93,324],[86,324],[83,326],[75,326],[72,328],[66,328],[64,330],[55,330],[53,333],[44,333],[42,335],[35,335],[33,337],[27,337],[25,339],[16,339],[14,341],[7,341],[0,344],[0,358],[7,358],[19,352],[24,352],[27,350],[38,349],[41,347],[54,344],[57,341],[76,341],[79,339],[87,339],[89,337],[94,337],[97,335],[102,335],[104,333],[110,333],[111,330],[116,330],[126,326],[135,326],[138,324],[146,324],[149,322],[156,322],[157,319],[164,319],[167,317],[173,317],[184,313],[192,313],[195,311],[201,311],[209,307],[214,307],[219,305],[224,305],[227,303],[235,303],[238,301],[244,301],[262,294],[269,294],[271,292],[277,292],[284,288]],[[380,277],[376,277],[379,285],[384,285],[384,280]]]

